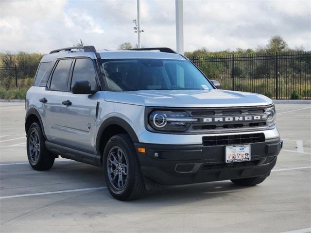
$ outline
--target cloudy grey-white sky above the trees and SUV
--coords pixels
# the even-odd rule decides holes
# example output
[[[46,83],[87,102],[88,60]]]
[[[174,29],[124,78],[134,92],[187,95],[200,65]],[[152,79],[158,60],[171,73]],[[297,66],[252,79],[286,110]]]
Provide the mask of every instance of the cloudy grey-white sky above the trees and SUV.
[[[142,45],[175,44],[175,0],[140,0]],[[0,52],[41,52],[82,39],[97,49],[137,43],[136,0],[0,0]],[[185,50],[266,45],[274,35],[311,50],[311,0],[184,0]]]

